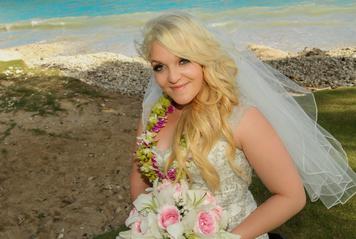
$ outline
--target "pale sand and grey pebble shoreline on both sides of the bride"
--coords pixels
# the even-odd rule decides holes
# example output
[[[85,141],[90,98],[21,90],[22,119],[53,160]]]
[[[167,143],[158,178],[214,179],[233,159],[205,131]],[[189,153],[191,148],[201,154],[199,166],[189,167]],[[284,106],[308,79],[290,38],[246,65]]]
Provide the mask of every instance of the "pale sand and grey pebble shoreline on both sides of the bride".
[[[356,46],[286,52],[250,44],[259,59],[312,91],[356,86]],[[59,70],[89,84],[124,95],[142,96],[151,69],[139,57],[90,52],[72,42],[34,43],[0,49],[0,61],[21,59],[29,67]]]

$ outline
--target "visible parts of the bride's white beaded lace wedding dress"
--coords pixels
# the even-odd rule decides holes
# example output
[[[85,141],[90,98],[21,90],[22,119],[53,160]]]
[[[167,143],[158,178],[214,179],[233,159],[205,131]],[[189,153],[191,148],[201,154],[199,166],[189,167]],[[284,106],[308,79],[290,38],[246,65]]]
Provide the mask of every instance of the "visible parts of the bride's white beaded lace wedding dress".
[[[241,102],[242,103],[242,102]],[[236,128],[243,113],[251,107],[248,104],[240,104],[235,107],[230,118],[230,126]],[[222,138],[211,149],[208,160],[215,166],[220,176],[220,189],[214,192],[214,195],[220,206],[228,213],[228,231],[239,225],[252,211],[257,207],[250,190],[249,183],[238,176],[230,167],[226,156],[226,147],[228,143]],[[171,148],[165,151],[155,148],[158,162],[165,162],[171,152]],[[252,168],[247,161],[245,154],[241,150],[236,150],[236,163],[241,170],[251,179]],[[194,164],[188,166],[192,177],[192,189],[209,190],[207,183],[201,177],[198,168]],[[251,181],[251,180],[250,180]],[[263,234],[257,239],[268,239],[267,234]]]

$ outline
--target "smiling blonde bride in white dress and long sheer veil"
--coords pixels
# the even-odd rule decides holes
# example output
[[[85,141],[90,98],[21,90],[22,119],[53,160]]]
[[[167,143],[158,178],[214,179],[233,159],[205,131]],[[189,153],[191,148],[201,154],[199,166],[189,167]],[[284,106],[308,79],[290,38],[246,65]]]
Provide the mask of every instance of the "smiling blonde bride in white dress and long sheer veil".
[[[321,140],[307,141],[307,132],[311,131],[308,125],[313,125],[314,135],[317,132],[324,136],[325,132],[315,127],[315,121],[296,101],[290,100],[285,87],[271,83],[277,82],[276,72],[249,56],[241,58],[237,51],[228,52],[211,32],[185,13],[151,19],[143,33],[139,52],[151,64],[153,78],[143,102],[137,135],[146,129],[149,112],[161,95],[173,105],[167,121],[157,130],[157,144],[149,149],[157,158],[162,175],[168,175],[174,167],[175,179],[185,176],[193,189],[212,191],[229,212],[228,230],[242,239],[268,238],[267,232],[302,210],[306,203],[303,183],[313,195],[312,200],[323,199],[323,186],[319,185],[317,192],[313,180],[322,184],[320,180],[329,180],[330,175],[319,174],[315,179],[303,167],[308,165],[309,146],[319,155],[327,152],[320,146]],[[273,85],[278,85],[279,90]],[[288,105],[291,102],[293,105]],[[299,133],[305,133],[305,138],[299,138]],[[303,150],[296,146],[300,143]],[[319,159],[311,160],[310,172],[323,171],[315,165]],[[133,161],[132,200],[150,186],[141,166]],[[273,194],[258,207],[249,191],[253,171]],[[327,199],[328,205],[346,201],[355,191],[355,174],[346,173],[345,168],[339,171],[336,173],[348,177],[346,181],[352,183],[348,188],[353,191],[334,190],[335,202]]]

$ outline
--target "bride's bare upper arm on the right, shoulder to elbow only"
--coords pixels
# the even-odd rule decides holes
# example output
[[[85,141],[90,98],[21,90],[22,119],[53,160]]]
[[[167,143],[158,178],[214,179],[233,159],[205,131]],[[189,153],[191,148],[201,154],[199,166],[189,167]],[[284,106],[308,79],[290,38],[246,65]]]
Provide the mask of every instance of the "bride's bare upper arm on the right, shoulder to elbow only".
[[[305,204],[302,179],[277,130],[263,112],[256,107],[248,108],[236,133],[246,159],[263,184],[272,193],[297,200],[300,210]]]

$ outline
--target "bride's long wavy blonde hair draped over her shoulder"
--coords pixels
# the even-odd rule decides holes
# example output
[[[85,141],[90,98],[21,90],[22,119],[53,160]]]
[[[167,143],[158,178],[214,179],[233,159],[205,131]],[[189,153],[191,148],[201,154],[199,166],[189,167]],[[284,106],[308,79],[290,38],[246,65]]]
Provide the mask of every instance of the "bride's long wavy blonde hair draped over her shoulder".
[[[183,109],[174,133],[172,153],[166,170],[177,161],[178,175],[190,177],[186,161],[191,154],[210,190],[217,190],[220,178],[208,161],[209,151],[224,136],[228,142],[227,157],[231,168],[242,178],[246,175],[234,164],[235,144],[227,118],[233,106],[238,105],[235,85],[237,66],[234,60],[205,27],[187,13],[174,12],[160,15],[148,21],[143,29],[144,39],[137,43],[137,51],[150,60],[152,43],[157,41],[172,54],[189,59],[203,68],[202,89],[193,101]],[[180,146],[184,135],[188,148]]]

